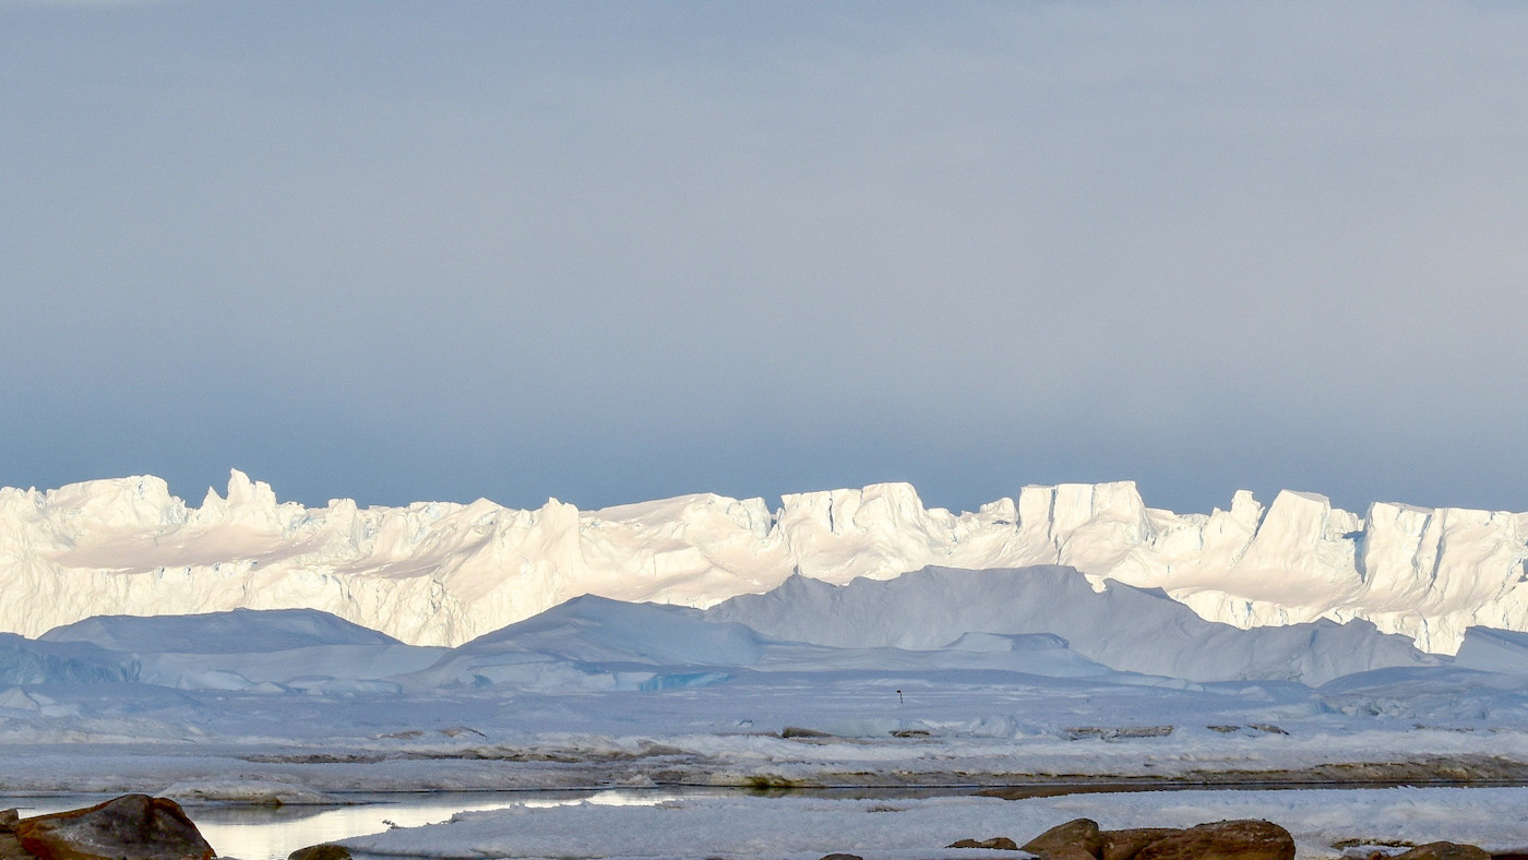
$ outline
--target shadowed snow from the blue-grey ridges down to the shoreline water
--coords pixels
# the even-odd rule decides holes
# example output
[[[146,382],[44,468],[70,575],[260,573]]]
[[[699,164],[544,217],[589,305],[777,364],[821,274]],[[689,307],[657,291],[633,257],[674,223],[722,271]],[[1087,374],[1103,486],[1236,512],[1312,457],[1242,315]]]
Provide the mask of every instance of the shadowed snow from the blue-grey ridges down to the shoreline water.
[[[1044,625],[1076,645],[1021,632]],[[1481,669],[1365,623],[1241,631],[1059,567],[796,577],[709,611],[585,596],[455,649],[312,609],[112,617],[0,635],[0,790],[1522,779],[1522,640],[1471,629]]]

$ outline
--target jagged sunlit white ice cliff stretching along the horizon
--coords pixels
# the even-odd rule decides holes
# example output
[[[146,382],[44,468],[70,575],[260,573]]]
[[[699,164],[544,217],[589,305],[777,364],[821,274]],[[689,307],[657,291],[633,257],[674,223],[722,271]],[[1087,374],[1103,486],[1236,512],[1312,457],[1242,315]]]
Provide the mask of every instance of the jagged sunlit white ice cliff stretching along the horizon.
[[[1247,492],[1229,510],[1146,507],[1132,483],[1024,487],[973,513],[908,484],[764,500],[691,495],[581,512],[280,503],[234,472],[200,507],[154,477],[0,489],[0,631],[102,614],[316,608],[417,645],[458,645],[579,594],[712,606],[792,573],[843,585],[929,565],[1068,565],[1161,588],[1241,628],[1366,619],[1426,651],[1465,628],[1528,631],[1528,513]]]

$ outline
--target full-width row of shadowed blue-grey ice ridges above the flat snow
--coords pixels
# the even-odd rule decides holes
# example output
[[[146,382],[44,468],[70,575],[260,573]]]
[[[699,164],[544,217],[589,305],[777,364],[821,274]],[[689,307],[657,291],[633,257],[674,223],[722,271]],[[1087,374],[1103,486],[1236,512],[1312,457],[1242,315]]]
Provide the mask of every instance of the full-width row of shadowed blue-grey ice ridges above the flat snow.
[[[1062,567],[927,568],[842,587],[792,577],[769,594],[706,611],[585,596],[455,649],[402,645],[310,609],[118,616],[35,642],[0,635],[0,683],[8,684],[142,681],[325,695],[461,686],[656,690],[776,672],[996,672],[1132,686],[1161,678],[1320,686],[1363,675],[1369,680],[1352,689],[1389,689],[1397,678],[1404,687],[1528,677],[1528,637],[1471,628],[1452,660],[1363,622],[1242,631],[1206,622],[1157,591],[1094,587]]]

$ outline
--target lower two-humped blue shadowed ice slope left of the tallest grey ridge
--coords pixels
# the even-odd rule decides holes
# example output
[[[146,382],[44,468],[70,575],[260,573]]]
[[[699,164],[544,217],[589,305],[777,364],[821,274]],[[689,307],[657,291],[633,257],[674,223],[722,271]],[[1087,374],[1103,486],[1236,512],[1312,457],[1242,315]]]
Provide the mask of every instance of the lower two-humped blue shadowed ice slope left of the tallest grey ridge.
[[[666,689],[736,672],[1118,675],[1051,635],[961,637],[949,649],[828,648],[762,637],[698,609],[576,597],[455,649],[410,646],[315,609],[110,616],[0,635],[0,681],[142,681],[176,689],[350,695],[442,686]],[[1129,680],[1129,678],[1126,678]]]

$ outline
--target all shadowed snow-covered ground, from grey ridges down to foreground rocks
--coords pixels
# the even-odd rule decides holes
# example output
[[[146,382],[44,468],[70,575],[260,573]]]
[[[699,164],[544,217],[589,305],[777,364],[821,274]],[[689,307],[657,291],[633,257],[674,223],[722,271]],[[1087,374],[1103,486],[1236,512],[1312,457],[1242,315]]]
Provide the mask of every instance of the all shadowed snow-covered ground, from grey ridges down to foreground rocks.
[[[1361,622],[1244,631],[1054,567],[793,579],[709,611],[581,597],[458,648],[312,609],[98,617],[0,637],[0,794],[203,810],[637,793],[497,796],[498,811],[353,842],[405,855],[927,857],[1079,814],[1270,817],[1308,855],[1349,839],[1523,846],[1528,825],[1482,811],[1523,790],[1479,787],[1528,781],[1528,637],[1473,628],[1441,657]],[[1268,782],[1476,787],[1247,790]],[[1222,788],[938,796],[1077,784]]]

